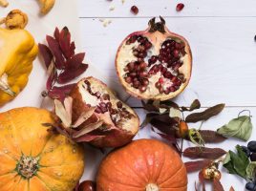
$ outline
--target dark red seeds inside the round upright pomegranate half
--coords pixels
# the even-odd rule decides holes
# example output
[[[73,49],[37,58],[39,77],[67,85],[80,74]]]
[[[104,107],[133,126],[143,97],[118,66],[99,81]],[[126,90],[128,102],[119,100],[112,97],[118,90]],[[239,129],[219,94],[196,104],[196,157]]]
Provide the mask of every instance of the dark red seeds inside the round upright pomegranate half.
[[[135,42],[139,42],[139,46],[133,49],[133,54],[138,60],[125,66],[125,81],[143,93],[149,85],[149,77],[160,72],[162,77],[155,84],[160,94],[168,95],[179,90],[182,82],[185,81],[183,74],[179,73],[179,68],[183,64],[181,57],[186,54],[184,44],[173,39],[167,39],[160,47],[160,54],[152,55],[146,63],[144,59],[152,47],[151,42],[142,35],[133,35],[126,41],[126,44],[130,45]],[[169,86],[166,87],[164,84],[166,80],[164,79],[167,79]]]

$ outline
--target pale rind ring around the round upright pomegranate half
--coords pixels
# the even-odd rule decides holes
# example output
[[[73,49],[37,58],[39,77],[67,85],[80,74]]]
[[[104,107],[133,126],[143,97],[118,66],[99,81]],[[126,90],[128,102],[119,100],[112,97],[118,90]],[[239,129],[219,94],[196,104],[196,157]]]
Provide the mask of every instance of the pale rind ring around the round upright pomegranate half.
[[[142,35],[145,36],[147,38],[150,39],[151,43],[154,44],[155,49],[159,50],[160,49],[160,43],[156,43],[156,33],[154,32],[149,32],[150,28],[148,28],[145,31],[140,31],[140,32],[133,32],[131,34],[129,34],[120,44],[120,46],[117,49],[117,55],[116,55],[116,60],[115,60],[115,66],[116,66],[116,71],[117,71],[117,76],[118,79],[120,81],[120,83],[122,84],[123,88],[125,89],[125,91],[130,94],[131,96],[135,96],[138,97],[140,99],[153,99],[153,100],[167,100],[170,98],[174,98],[178,95],[180,95],[184,89],[186,88],[186,86],[188,85],[190,78],[191,78],[191,74],[192,74],[192,53],[191,53],[191,49],[189,46],[188,41],[181,36],[180,34],[174,33],[174,32],[170,32],[166,26],[164,26],[164,30],[165,33],[160,33],[157,34],[158,35],[158,41],[164,41],[167,38],[172,38],[172,39],[179,39],[181,40],[181,42],[185,45],[184,50],[185,50],[185,55],[184,55],[184,60],[183,60],[183,65],[181,66],[181,68],[179,69],[179,73],[184,74],[184,78],[186,79],[185,82],[183,82],[181,84],[181,87],[179,88],[179,90],[177,90],[176,92],[173,93],[169,93],[168,95],[165,94],[156,94],[156,95],[148,95],[146,93],[141,93],[139,92],[138,89],[135,89],[134,87],[132,87],[130,84],[128,84],[124,77],[122,76],[124,74],[123,72],[123,67],[120,64],[120,50],[122,49],[122,47],[125,45],[126,41],[133,35]],[[156,43],[156,44],[155,44]],[[154,86],[154,85],[151,85]]]

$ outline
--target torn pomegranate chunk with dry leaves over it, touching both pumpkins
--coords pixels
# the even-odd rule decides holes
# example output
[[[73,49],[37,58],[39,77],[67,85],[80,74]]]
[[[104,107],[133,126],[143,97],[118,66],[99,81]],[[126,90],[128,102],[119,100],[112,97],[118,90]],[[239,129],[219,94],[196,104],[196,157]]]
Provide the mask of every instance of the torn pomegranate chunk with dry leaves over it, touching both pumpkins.
[[[86,77],[80,80],[71,95],[73,97],[73,120],[89,108],[95,108],[94,115],[86,120],[86,126],[90,123],[103,121],[101,127],[92,132],[91,136],[99,135],[90,141],[100,148],[119,147],[132,140],[139,131],[139,117],[102,81],[94,77]]]

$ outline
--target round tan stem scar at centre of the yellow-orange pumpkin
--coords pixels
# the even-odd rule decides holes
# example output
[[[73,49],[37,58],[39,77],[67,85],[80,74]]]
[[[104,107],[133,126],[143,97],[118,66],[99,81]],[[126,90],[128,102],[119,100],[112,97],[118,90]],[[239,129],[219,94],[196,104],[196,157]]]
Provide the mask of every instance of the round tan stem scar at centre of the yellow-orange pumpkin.
[[[38,160],[39,158],[32,158],[31,156],[21,156],[16,167],[18,174],[25,179],[31,179],[39,169]]]

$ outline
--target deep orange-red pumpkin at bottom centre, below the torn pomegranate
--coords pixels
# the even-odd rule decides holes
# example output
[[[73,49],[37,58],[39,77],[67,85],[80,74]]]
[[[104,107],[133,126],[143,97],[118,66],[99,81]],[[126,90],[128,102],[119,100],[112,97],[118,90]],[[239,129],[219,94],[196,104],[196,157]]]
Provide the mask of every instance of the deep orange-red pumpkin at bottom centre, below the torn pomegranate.
[[[186,169],[178,153],[159,140],[139,139],[103,159],[97,191],[185,191]]]

